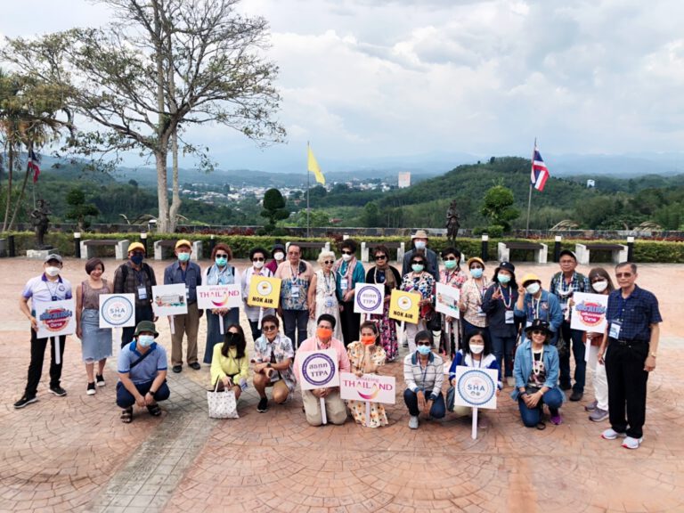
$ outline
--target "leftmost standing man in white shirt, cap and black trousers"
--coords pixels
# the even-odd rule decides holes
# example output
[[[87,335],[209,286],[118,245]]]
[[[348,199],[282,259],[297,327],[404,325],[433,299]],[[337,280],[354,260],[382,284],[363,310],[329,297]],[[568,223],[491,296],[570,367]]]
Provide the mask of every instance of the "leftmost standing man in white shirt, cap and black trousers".
[[[48,338],[37,338],[38,322],[35,305],[37,302],[47,303],[71,299],[71,284],[60,276],[61,265],[61,256],[56,254],[46,256],[43,264],[43,273],[36,278],[30,279],[21,293],[19,309],[22,314],[26,315],[28,321],[31,322],[31,362],[28,364],[28,379],[24,395],[19,401],[14,403],[14,408],[17,409],[23,408],[30,403],[36,403],[38,383],[40,383],[40,376],[43,373],[45,346],[47,346]],[[28,308],[28,299],[31,300],[32,308]],[[60,362],[56,363],[56,340],[54,337],[50,338],[50,354],[52,356],[52,362],[50,363],[50,392],[58,396],[67,395],[67,391],[60,386],[61,362],[66,340],[67,337],[65,335],[59,338]]]

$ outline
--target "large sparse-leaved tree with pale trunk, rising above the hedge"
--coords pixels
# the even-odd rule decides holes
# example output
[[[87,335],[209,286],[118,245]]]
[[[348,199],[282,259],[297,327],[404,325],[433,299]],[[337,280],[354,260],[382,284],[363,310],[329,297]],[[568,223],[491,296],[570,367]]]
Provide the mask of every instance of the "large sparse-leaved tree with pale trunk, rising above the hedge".
[[[173,232],[180,195],[176,166],[169,209],[167,158],[182,128],[217,123],[259,144],[285,136],[273,119],[278,69],[263,56],[268,24],[240,15],[239,0],[102,3],[114,13],[106,27],[9,39],[4,59],[60,85],[73,109],[101,126],[72,138],[81,154],[154,158],[159,231]]]

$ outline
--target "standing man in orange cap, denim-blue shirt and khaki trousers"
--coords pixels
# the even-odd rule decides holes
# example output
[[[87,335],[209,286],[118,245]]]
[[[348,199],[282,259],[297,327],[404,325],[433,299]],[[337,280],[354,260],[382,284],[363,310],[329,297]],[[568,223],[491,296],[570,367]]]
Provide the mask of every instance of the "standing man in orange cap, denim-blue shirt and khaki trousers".
[[[164,271],[164,285],[182,283],[185,285],[185,299],[188,302],[188,313],[174,315],[174,333],[171,335],[171,365],[174,372],[183,371],[183,335],[188,335],[186,360],[195,371],[201,366],[197,361],[197,332],[199,317],[204,310],[197,307],[197,288],[202,284],[202,273],[199,265],[190,261],[192,245],[190,240],[178,240],[175,243],[177,260]]]

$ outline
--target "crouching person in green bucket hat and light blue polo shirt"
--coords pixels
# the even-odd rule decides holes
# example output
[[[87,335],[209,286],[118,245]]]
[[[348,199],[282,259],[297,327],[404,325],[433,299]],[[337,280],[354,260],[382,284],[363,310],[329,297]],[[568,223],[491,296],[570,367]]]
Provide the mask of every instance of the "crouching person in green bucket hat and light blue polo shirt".
[[[167,351],[154,341],[157,337],[154,322],[138,322],[133,342],[118,354],[117,404],[123,408],[120,419],[125,424],[133,420],[134,404],[159,417],[159,401],[171,395],[167,386]]]

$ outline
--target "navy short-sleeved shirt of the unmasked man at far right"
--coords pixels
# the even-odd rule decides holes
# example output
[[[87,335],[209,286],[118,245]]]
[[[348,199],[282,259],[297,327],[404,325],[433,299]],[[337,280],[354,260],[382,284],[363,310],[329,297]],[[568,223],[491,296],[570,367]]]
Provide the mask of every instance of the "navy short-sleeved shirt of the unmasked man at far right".
[[[640,340],[647,342],[651,339],[651,324],[663,322],[655,296],[637,285],[629,297],[623,297],[622,289],[615,289],[608,296],[606,313],[608,327],[613,321],[622,322],[620,328],[621,340]]]

